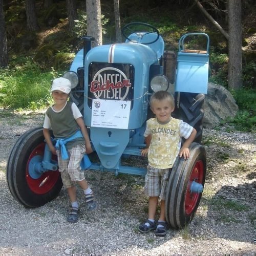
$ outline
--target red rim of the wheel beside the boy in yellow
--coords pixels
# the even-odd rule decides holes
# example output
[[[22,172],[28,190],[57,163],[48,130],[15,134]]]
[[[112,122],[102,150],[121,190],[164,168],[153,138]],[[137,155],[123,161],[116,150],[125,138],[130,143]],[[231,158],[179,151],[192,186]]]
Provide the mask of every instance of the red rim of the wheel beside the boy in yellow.
[[[204,164],[203,161],[197,161],[189,177],[186,195],[185,195],[185,212],[186,215],[191,215],[194,211],[197,202],[199,200],[199,193],[191,193],[190,185],[193,181],[202,184],[204,176]]]

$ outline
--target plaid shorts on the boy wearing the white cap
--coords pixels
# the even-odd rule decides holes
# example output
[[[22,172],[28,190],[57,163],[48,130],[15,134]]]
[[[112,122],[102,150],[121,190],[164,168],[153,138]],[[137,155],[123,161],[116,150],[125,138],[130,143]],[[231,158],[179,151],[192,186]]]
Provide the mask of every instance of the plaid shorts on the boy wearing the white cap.
[[[73,146],[71,150],[68,150],[69,159],[63,160],[61,158],[60,150],[57,150],[58,166],[61,175],[63,185],[73,187],[76,181],[84,180],[84,174],[81,172],[80,163],[86,152],[86,146],[79,144]]]

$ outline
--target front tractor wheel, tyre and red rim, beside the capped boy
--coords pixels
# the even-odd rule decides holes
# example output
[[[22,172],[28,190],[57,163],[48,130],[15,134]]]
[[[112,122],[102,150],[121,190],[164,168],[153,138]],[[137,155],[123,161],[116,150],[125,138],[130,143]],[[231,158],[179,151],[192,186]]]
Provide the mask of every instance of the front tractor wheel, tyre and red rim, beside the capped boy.
[[[41,161],[44,150],[42,127],[35,127],[20,136],[8,159],[6,177],[9,190],[14,199],[26,207],[39,207],[50,202],[62,187],[58,170],[49,170],[37,179],[29,175],[31,159]],[[56,161],[56,156],[52,160]]]

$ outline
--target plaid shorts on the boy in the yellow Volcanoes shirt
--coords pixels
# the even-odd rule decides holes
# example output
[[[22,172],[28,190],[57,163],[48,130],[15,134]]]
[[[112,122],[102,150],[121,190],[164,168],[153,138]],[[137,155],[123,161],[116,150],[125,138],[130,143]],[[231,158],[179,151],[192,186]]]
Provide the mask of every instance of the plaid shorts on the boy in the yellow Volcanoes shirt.
[[[147,165],[144,190],[148,197],[159,197],[161,200],[165,200],[169,170]]]

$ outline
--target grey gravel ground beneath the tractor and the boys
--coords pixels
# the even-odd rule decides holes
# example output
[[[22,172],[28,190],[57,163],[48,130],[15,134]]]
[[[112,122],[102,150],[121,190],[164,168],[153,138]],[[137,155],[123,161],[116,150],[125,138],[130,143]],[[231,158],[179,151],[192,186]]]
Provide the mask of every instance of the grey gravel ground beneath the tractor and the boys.
[[[41,125],[41,113],[0,110],[0,255],[255,255],[255,135],[204,129],[207,177],[193,221],[166,237],[140,234],[147,216],[143,177],[87,171],[98,207],[88,212],[78,191],[80,219],[66,222],[68,196],[29,209],[11,196],[6,164],[18,136]],[[146,165],[140,157],[127,160]],[[253,223],[254,220],[254,223]]]

